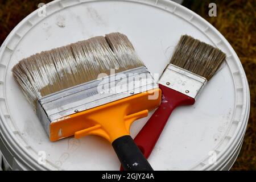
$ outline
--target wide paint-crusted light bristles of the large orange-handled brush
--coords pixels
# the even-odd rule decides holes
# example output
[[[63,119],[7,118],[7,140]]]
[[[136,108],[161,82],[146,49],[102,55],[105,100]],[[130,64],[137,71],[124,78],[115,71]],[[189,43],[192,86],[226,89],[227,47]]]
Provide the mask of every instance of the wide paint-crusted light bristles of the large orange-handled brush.
[[[110,69],[118,73],[143,65],[125,35],[109,35],[108,42],[97,36],[19,61],[13,75],[34,108],[40,97],[96,80],[100,73],[110,75]]]

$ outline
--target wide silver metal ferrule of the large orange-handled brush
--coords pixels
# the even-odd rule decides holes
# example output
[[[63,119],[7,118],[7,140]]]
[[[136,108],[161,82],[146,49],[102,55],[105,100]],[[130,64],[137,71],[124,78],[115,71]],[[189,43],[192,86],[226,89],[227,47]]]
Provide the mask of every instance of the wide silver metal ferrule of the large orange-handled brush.
[[[147,68],[138,67],[42,97],[37,114],[49,135],[51,122],[155,88],[158,84]]]

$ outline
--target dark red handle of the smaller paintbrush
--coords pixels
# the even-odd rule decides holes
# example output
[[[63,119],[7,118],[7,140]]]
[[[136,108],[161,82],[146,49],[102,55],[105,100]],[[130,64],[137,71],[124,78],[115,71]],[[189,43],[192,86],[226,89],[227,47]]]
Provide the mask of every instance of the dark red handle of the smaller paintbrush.
[[[161,84],[159,84],[159,88],[162,90],[162,102],[134,139],[134,142],[141,149],[145,158],[150,156],[172,111],[177,106],[193,105],[195,103],[194,98],[186,96],[176,90]]]

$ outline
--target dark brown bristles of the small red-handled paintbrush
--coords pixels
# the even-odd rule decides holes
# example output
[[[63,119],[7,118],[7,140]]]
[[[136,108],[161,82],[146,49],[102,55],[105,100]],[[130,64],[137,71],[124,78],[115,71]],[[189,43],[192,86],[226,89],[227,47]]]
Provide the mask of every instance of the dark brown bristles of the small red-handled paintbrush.
[[[183,35],[170,63],[203,76],[209,81],[225,59],[226,55],[220,49]]]

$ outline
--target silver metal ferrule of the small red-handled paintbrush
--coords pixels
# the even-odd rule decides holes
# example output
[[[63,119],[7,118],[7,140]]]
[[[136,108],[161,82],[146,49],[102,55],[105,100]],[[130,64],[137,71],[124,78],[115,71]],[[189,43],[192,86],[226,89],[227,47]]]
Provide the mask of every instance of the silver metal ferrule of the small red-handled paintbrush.
[[[159,79],[159,84],[195,99],[201,90],[203,90],[206,83],[206,78],[173,64],[169,64],[166,67],[163,75]]]

